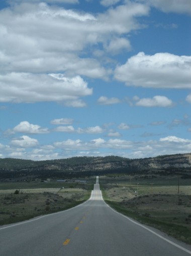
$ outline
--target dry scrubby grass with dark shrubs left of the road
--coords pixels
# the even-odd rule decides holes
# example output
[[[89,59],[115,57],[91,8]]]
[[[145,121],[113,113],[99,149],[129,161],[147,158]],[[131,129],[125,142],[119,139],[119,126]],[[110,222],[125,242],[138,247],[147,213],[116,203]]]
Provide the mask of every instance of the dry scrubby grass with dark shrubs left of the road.
[[[0,225],[66,210],[83,202],[90,191],[80,188],[0,190]]]

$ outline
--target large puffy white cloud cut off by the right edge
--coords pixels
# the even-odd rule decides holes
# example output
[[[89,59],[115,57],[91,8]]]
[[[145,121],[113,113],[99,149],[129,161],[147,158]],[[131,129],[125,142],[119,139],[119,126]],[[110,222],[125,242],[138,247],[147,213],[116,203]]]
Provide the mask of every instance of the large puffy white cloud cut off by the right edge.
[[[139,53],[116,68],[115,78],[127,86],[191,88],[191,56]]]

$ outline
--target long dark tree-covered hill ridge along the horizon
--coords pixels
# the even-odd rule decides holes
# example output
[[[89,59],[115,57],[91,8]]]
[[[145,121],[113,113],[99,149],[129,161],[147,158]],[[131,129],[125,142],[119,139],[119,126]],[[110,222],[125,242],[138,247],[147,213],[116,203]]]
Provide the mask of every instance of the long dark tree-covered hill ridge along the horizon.
[[[128,159],[116,156],[74,157],[47,161],[0,159],[0,179],[80,177],[107,173],[181,173],[191,172],[191,153],[154,158]]]

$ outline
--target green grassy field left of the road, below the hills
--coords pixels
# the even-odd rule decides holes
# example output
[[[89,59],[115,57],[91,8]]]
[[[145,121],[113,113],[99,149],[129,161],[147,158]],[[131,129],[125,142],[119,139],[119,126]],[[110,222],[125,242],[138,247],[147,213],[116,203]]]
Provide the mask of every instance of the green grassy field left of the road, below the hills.
[[[93,182],[6,182],[0,187],[0,225],[4,225],[74,207],[90,197]]]

